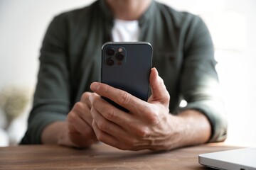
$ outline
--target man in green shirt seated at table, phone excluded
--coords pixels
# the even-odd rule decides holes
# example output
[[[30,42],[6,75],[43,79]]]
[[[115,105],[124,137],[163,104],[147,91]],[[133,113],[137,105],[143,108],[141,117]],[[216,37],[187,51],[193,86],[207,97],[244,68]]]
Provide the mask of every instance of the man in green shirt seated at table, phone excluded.
[[[132,31],[124,31],[126,24]],[[153,46],[148,102],[99,83],[101,46],[116,40]],[[21,144],[85,148],[100,141],[119,149],[169,150],[225,140],[213,44],[201,18],[190,13],[150,0],[95,1],[54,18],[40,61]]]

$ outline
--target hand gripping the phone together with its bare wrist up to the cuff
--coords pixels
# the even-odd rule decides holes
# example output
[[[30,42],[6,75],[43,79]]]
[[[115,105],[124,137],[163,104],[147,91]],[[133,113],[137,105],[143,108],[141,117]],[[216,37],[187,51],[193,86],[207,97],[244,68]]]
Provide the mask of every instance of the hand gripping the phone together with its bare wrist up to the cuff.
[[[119,149],[169,150],[206,142],[210,124],[198,111],[185,111],[181,116],[169,114],[169,93],[156,69],[151,69],[152,95],[148,102],[107,84],[93,83],[92,128],[97,139]],[[127,108],[115,108],[100,96],[110,98]],[[194,126],[192,128],[192,126]]]

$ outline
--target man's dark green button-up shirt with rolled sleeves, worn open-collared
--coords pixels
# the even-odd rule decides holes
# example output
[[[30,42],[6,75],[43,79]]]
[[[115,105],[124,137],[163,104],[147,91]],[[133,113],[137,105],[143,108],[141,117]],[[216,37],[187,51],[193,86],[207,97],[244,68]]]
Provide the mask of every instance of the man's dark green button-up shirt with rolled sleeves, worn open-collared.
[[[101,47],[111,41],[114,18],[105,1],[56,16],[43,40],[38,84],[28,130],[21,144],[41,143],[46,125],[65,120],[90,84],[100,81]],[[139,41],[150,42],[152,67],[171,96],[169,111],[204,113],[212,126],[210,142],[225,140],[227,123],[218,92],[213,42],[198,16],[152,1],[139,18]],[[181,99],[187,101],[180,108]]]

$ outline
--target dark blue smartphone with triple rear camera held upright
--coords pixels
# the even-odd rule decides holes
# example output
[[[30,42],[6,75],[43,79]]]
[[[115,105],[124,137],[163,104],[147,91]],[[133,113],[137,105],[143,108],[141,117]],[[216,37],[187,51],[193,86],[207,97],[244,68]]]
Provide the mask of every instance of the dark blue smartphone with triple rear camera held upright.
[[[147,101],[152,54],[149,42],[106,42],[102,45],[102,83]],[[110,99],[105,100],[127,111]]]

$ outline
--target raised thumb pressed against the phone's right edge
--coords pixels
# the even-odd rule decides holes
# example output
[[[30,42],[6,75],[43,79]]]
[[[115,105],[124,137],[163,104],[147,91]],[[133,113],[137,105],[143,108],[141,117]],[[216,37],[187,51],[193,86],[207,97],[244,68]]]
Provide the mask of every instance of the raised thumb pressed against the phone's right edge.
[[[164,85],[164,80],[159,77],[156,68],[151,69],[149,84],[151,86],[151,96],[149,98],[149,103],[160,102],[169,106],[169,92]]]

